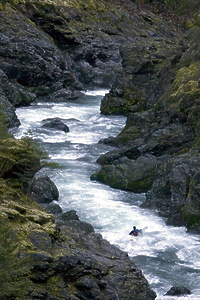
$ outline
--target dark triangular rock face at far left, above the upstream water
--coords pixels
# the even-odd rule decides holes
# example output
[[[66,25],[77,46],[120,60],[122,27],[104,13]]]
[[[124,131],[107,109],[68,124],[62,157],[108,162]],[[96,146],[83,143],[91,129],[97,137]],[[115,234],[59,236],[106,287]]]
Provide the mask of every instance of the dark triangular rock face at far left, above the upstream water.
[[[7,5],[0,12],[0,24],[0,70],[13,90],[9,92],[4,86],[13,105],[29,105],[36,97],[49,97],[61,88],[69,89],[69,83],[71,90],[75,86],[80,88],[70,71],[70,59],[65,59],[67,54],[64,58],[53,40],[24,11]]]

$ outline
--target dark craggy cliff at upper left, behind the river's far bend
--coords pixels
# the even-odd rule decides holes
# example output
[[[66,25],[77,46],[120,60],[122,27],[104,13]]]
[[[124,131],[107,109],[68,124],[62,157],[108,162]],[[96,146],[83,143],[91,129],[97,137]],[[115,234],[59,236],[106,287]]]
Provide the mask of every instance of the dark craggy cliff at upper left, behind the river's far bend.
[[[4,100],[14,107],[38,98],[66,101],[88,86],[111,86],[121,68],[123,41],[120,28],[108,24],[110,17],[116,20],[114,11],[96,1],[12,4],[3,1],[0,10]]]

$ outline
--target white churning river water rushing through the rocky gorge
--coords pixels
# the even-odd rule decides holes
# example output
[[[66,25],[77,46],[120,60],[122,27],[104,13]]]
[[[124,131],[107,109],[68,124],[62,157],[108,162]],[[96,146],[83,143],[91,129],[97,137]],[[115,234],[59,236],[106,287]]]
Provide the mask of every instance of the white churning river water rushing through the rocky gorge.
[[[100,114],[104,90],[90,91],[67,103],[37,103],[17,109],[21,121],[13,132],[20,138],[31,131],[48,150],[60,169],[45,172],[59,189],[63,211],[75,209],[81,220],[91,223],[95,231],[128,252],[142,269],[158,300],[200,299],[200,238],[186,233],[184,227],[166,226],[156,212],[139,208],[145,196],[112,189],[90,181],[99,169],[96,159],[112,148],[98,143],[116,136],[125,124],[121,116]],[[41,128],[42,120],[60,117],[69,133]],[[133,225],[146,228],[140,237],[130,237]],[[164,296],[173,285],[192,290],[191,295]]]

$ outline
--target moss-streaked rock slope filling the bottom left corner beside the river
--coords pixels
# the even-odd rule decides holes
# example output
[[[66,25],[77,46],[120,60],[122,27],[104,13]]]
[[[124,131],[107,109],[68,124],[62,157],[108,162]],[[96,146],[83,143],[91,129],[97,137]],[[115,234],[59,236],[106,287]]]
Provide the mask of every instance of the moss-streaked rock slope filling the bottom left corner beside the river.
[[[1,299],[155,299],[128,255],[75,213],[58,223],[0,180]]]

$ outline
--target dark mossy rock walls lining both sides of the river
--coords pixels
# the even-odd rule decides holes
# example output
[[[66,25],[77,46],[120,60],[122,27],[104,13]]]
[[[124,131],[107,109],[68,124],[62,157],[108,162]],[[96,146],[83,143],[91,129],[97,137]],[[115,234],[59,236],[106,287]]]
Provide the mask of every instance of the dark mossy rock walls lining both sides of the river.
[[[110,88],[101,113],[127,122],[100,141],[116,150],[91,179],[145,192],[143,207],[199,233],[199,16],[186,34],[136,2],[0,3],[1,300],[156,297],[126,253],[49,203],[56,187],[34,177],[45,153],[7,130],[18,106]]]

